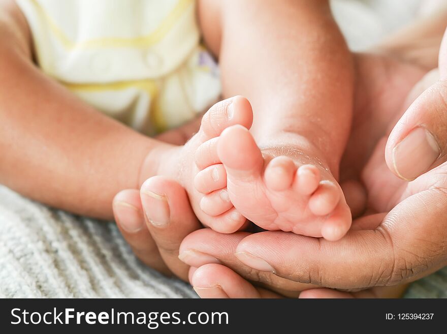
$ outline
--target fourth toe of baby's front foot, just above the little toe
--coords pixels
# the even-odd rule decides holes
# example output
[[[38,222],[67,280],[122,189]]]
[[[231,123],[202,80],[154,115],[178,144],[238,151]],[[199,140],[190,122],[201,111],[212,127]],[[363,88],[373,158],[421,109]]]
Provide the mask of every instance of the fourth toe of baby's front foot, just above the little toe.
[[[310,211],[316,216],[329,215],[340,200],[340,192],[331,181],[322,181],[309,198]]]

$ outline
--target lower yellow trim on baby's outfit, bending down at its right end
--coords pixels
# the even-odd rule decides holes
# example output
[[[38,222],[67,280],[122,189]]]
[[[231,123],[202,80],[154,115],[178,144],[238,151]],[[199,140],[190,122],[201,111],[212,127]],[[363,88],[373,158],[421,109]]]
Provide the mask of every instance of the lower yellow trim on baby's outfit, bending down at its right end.
[[[110,90],[124,90],[129,88],[137,88],[144,90],[151,98],[150,101],[150,113],[149,117],[151,124],[155,128],[157,133],[161,133],[168,129],[168,124],[163,115],[163,110],[159,106],[158,102],[158,84],[151,80],[135,80],[125,82],[112,82],[104,84],[89,84],[89,83],[67,83],[61,82],[70,90],[83,91],[83,92],[104,92]]]

